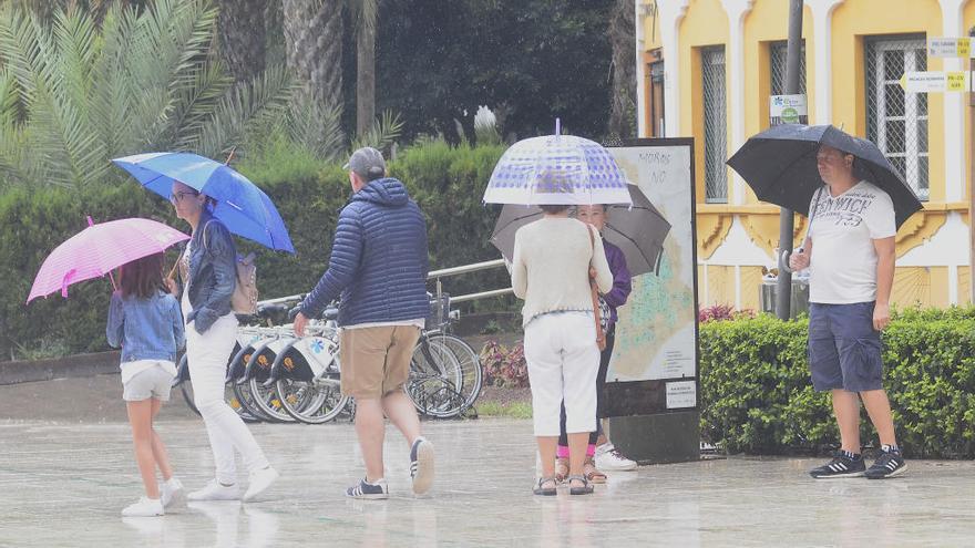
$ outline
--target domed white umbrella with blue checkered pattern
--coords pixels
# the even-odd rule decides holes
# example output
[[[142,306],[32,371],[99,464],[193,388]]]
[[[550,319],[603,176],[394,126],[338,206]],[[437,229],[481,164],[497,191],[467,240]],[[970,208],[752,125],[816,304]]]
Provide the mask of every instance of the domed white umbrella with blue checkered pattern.
[[[512,145],[494,166],[484,201],[630,204],[626,177],[609,151],[572,135],[532,137]]]

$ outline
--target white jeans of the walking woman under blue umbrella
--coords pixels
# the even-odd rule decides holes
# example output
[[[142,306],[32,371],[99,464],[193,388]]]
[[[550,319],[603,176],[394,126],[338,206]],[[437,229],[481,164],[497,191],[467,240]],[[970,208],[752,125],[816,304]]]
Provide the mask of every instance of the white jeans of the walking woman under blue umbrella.
[[[233,313],[218,319],[203,334],[197,333],[193,324],[186,327],[186,354],[196,409],[206,424],[217,480],[226,485],[237,482],[235,448],[249,472],[268,466],[247,425],[224,401],[227,361],[236,335],[237,319]]]

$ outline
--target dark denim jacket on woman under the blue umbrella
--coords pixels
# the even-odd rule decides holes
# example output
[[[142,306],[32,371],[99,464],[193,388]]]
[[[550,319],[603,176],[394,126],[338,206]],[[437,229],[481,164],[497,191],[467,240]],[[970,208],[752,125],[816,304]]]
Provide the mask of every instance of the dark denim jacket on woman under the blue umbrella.
[[[237,250],[234,237],[208,211],[199,217],[189,251],[189,306],[186,323],[195,320],[204,333],[217,319],[230,313],[230,298],[237,287]],[[187,280],[183,281],[186,290]]]

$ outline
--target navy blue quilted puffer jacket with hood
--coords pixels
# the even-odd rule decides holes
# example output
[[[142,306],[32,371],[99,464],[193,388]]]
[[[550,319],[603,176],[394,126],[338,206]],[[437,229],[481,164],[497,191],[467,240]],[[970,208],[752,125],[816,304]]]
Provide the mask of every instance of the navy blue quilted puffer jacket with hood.
[[[339,325],[427,318],[427,223],[394,178],[370,182],[339,214],[328,270],[301,303],[314,318],[341,293]]]

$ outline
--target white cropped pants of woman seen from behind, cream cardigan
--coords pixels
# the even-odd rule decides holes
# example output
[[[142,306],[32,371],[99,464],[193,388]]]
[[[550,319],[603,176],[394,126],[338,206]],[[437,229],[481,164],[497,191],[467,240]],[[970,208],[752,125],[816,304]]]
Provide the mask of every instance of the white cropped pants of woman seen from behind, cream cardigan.
[[[599,347],[592,312],[536,317],[525,325],[525,360],[536,436],[557,436],[565,401],[565,432],[596,430]]]

